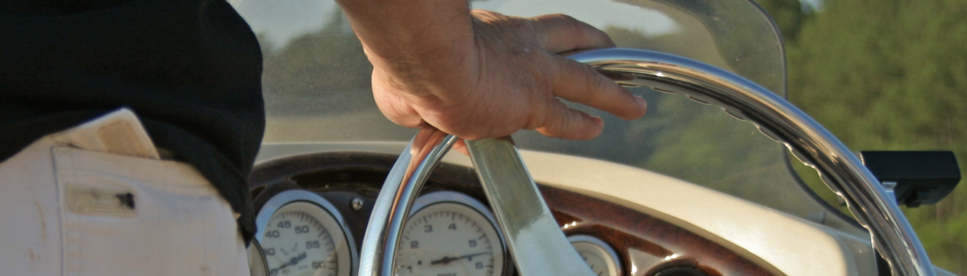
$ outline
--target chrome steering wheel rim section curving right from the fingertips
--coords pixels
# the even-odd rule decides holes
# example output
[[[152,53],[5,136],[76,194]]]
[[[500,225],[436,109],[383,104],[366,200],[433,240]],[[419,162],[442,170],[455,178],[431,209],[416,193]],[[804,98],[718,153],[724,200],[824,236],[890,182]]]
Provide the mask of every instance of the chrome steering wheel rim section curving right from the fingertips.
[[[729,71],[658,52],[612,48],[570,58],[634,76],[618,83],[682,93],[752,122],[816,168],[837,194],[845,193],[847,206],[890,262],[893,275],[934,275],[923,245],[880,182],[832,133],[782,97]]]

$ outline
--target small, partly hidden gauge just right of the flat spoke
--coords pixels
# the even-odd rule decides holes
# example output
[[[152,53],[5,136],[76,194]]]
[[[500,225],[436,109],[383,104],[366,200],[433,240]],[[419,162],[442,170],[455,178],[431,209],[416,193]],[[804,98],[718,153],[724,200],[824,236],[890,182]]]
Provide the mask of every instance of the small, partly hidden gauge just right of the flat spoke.
[[[590,235],[571,235],[568,237],[577,255],[591,266],[591,271],[598,276],[619,276],[621,262],[618,254],[610,245],[601,239]]]

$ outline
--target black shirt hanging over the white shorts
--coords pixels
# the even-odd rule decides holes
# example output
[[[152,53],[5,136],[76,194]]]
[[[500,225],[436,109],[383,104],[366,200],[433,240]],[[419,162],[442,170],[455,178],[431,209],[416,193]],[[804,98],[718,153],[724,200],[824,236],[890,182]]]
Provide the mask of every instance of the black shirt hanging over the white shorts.
[[[0,160],[121,107],[255,225],[262,56],[223,0],[0,2]]]

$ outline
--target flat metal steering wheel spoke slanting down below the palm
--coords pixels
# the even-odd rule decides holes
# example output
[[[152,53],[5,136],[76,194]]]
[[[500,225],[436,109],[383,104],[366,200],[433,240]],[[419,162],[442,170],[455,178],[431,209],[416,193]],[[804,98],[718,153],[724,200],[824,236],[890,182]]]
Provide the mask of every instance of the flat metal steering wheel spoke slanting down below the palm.
[[[594,275],[554,220],[513,142],[464,142],[520,275]]]

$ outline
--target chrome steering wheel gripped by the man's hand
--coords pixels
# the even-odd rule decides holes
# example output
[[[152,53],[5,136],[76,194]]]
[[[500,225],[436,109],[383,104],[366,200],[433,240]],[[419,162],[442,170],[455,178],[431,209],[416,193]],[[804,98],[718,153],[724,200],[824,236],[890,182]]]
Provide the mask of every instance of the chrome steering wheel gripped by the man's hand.
[[[603,49],[571,59],[634,76],[620,84],[685,94],[756,124],[816,168],[835,193],[844,196],[870,232],[874,247],[890,262],[893,275],[934,275],[923,245],[883,186],[833,134],[784,98],[734,73],[659,52]],[[360,276],[395,273],[396,246],[406,214],[429,172],[457,139],[425,128],[400,154],[369,218],[360,251]],[[554,222],[513,142],[484,139],[466,144],[520,275],[592,275]]]

